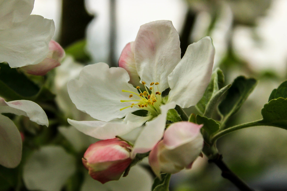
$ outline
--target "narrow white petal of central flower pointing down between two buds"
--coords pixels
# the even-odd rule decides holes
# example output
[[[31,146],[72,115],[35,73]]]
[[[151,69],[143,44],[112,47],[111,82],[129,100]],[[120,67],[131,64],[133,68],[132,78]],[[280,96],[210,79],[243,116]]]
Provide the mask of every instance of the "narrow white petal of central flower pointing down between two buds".
[[[137,153],[145,153],[150,151],[154,145],[162,138],[165,123],[166,114],[169,109],[175,107],[174,102],[170,102],[166,105],[160,106],[160,115],[155,117],[152,121],[146,122],[146,127],[141,131],[139,137],[135,141],[133,150],[131,152],[131,157],[134,158]]]

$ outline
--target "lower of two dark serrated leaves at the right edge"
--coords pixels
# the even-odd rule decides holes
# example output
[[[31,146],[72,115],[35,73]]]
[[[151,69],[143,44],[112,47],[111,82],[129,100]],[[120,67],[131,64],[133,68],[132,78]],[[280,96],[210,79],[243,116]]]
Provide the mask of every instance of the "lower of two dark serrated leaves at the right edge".
[[[262,121],[269,126],[287,129],[287,99],[272,99],[261,110]]]

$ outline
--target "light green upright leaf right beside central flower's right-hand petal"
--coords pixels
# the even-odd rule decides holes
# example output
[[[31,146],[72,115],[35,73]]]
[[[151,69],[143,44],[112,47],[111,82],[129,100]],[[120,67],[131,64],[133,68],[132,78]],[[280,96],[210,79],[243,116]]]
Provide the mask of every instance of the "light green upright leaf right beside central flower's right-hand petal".
[[[196,108],[198,111],[200,111],[202,114],[205,112],[206,105],[208,105],[210,99],[212,96],[219,90],[220,86],[219,84],[224,83],[224,75],[222,70],[219,68],[216,68],[216,70],[212,73],[210,83],[208,84],[203,97],[199,102],[196,104]]]

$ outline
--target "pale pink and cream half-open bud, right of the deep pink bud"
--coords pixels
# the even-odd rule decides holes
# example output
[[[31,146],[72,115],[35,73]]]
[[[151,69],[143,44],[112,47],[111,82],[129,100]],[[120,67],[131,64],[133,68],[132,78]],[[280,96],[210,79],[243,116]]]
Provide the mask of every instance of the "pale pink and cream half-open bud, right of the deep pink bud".
[[[172,123],[166,129],[163,139],[149,155],[149,163],[156,176],[160,177],[160,172],[174,174],[191,168],[203,148],[202,126],[182,121]]]

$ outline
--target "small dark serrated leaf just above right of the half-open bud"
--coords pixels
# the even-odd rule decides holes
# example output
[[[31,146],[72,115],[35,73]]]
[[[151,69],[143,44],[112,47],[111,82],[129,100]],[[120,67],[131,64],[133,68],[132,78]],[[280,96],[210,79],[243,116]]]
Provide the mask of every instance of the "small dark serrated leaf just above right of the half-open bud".
[[[204,116],[196,115],[196,123],[199,125],[203,124],[202,129],[204,129],[208,135],[212,135],[220,129],[219,123]]]

